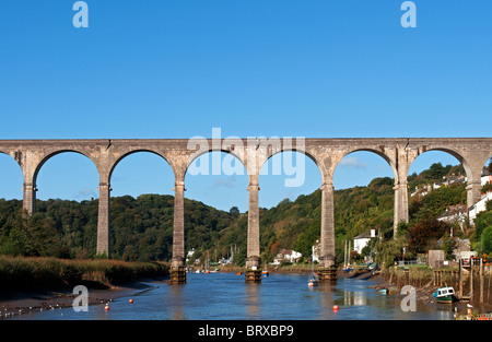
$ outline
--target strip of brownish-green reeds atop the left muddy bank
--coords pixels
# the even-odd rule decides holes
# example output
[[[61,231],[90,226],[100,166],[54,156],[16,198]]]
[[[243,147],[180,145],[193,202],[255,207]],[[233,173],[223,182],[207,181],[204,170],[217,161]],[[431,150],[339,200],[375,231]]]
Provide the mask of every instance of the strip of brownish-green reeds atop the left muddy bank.
[[[168,274],[159,262],[71,260],[0,256],[0,290],[55,290],[82,284],[108,286]]]

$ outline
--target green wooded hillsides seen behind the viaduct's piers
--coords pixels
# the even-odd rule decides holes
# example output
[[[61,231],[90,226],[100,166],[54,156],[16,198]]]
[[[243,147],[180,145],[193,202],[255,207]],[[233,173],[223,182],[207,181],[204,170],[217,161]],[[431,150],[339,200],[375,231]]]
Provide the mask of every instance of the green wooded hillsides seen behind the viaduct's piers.
[[[409,187],[442,181],[444,176],[464,174],[462,166],[441,163],[419,175],[409,176]],[[398,225],[394,238],[394,179],[375,178],[366,187],[335,191],[335,234],[337,262],[343,262],[344,240],[368,229],[378,238],[372,241],[380,262],[417,256],[437,241],[454,236],[469,238],[471,248],[492,252],[492,204],[476,219],[476,226],[459,226],[436,220],[449,205],[467,204],[465,184],[442,187],[431,193],[409,199],[409,223]],[[260,250],[263,261],[271,261],[281,248],[311,258],[311,248],[319,239],[321,193],[285,199],[271,209],[260,209]],[[58,258],[97,258],[98,201],[36,201],[37,212],[22,213],[22,201],[0,199],[0,255],[45,256]],[[110,199],[112,258],[125,261],[168,261],[173,246],[174,198],[166,194],[142,194]],[[229,212],[199,201],[185,199],[185,248],[195,248],[192,259],[209,252],[211,259],[236,251],[234,262],[244,264],[247,251],[247,213],[233,207]],[[452,249],[452,243],[448,243]],[[440,247],[442,248],[442,247]],[[364,255],[370,251],[363,250]],[[192,260],[191,260],[192,261]]]

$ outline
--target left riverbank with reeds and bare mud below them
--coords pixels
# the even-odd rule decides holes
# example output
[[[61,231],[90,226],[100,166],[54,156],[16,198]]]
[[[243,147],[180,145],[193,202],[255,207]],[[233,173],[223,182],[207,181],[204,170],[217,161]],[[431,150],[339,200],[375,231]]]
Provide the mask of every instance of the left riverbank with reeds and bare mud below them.
[[[89,305],[103,304],[168,279],[160,262],[0,257],[0,318],[72,306],[73,287],[87,288]]]

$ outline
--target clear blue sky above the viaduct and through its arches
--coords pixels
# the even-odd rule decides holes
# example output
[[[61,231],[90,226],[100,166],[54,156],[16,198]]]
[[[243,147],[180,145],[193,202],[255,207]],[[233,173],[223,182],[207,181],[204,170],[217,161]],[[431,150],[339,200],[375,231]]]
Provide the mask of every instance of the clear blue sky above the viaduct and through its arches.
[[[211,137],[490,137],[492,2],[415,0],[72,0],[0,2],[0,139]],[[349,155],[336,188],[391,176],[371,153]],[[260,178],[260,205],[320,186]],[[422,155],[411,172],[445,153]],[[171,167],[133,154],[113,196],[173,193]],[[97,197],[84,156],[48,161],[38,198]],[[246,176],[187,176],[186,197],[247,209]],[[0,156],[0,198],[22,198],[20,167]]]

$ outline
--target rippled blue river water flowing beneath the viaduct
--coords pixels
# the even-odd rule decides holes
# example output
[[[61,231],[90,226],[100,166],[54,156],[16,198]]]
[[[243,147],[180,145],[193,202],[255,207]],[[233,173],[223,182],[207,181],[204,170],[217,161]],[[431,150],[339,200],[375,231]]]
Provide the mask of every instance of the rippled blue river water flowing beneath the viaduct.
[[[449,305],[419,305],[403,311],[395,295],[383,295],[364,280],[339,279],[311,288],[306,274],[273,273],[246,284],[235,273],[188,273],[186,285],[149,283],[131,296],[87,311],[72,307],[13,317],[23,320],[412,320],[453,319]],[[130,304],[129,299],[133,299]],[[338,305],[338,311],[333,311]]]

